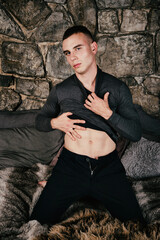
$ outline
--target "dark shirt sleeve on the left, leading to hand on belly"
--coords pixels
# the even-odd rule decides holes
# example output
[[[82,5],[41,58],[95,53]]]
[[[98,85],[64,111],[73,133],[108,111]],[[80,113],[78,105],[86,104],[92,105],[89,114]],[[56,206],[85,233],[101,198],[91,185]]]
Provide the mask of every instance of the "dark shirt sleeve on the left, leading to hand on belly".
[[[53,87],[48,99],[37,115],[35,120],[35,126],[39,131],[49,132],[54,129],[51,127],[51,119],[58,116],[60,112],[58,98],[56,93],[56,87]]]

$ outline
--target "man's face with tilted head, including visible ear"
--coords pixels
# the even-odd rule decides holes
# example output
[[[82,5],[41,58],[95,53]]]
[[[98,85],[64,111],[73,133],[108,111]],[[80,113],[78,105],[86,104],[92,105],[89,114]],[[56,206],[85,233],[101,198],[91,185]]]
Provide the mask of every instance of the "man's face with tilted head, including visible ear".
[[[63,52],[76,74],[85,74],[96,66],[96,42],[83,33],[76,33],[63,41]]]

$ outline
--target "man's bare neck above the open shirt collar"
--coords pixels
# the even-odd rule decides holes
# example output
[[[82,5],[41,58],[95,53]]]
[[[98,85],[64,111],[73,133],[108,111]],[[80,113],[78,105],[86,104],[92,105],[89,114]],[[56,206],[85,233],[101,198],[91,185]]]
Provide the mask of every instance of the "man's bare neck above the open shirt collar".
[[[96,75],[97,65],[90,68],[87,72],[83,74],[76,73],[76,76],[81,81],[81,83],[91,91],[94,91]]]

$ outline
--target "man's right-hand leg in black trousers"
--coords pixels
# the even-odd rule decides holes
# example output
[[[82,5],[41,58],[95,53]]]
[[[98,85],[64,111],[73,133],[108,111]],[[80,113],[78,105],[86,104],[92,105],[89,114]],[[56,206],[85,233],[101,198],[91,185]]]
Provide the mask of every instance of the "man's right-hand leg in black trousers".
[[[103,168],[99,166],[93,176],[93,196],[106,206],[112,216],[122,221],[144,221],[123,165],[115,153],[111,154],[110,159],[108,157],[106,164],[105,161],[102,164]]]

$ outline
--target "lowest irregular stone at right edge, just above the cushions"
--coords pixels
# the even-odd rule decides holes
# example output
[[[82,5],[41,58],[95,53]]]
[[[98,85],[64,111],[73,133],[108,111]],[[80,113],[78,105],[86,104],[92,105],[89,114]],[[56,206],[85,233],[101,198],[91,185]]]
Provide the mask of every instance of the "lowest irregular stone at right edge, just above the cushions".
[[[145,92],[144,87],[135,86],[130,88],[133,102],[139,104],[151,115],[159,115],[159,98]]]

